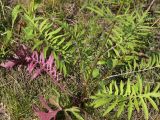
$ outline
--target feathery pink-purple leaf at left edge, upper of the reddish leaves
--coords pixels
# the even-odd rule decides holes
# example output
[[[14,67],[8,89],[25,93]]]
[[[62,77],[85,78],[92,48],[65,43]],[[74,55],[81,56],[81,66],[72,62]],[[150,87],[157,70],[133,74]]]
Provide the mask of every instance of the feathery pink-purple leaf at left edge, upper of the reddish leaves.
[[[59,82],[58,72],[52,54],[45,60],[43,52],[41,52],[40,55],[37,51],[30,53],[24,45],[21,45],[18,50],[15,51],[14,57],[0,64],[1,67],[6,69],[12,69],[18,65],[27,66],[27,71],[31,74],[32,79],[35,79],[42,72],[46,72],[55,83]]]

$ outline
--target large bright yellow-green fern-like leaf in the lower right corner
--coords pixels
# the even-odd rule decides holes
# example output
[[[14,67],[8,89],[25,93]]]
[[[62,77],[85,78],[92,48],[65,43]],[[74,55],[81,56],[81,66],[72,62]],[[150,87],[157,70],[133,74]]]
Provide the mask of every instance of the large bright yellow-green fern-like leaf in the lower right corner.
[[[137,82],[134,84],[128,79],[127,84],[124,84],[121,81],[120,87],[118,87],[116,81],[112,81],[109,87],[103,87],[103,90],[99,90],[95,96],[91,97],[94,100],[91,105],[95,108],[103,106],[103,108],[105,108],[103,115],[106,115],[117,108],[117,117],[119,117],[127,108],[128,119],[131,119],[134,110],[139,112],[141,109],[147,120],[149,115],[147,108],[148,104],[151,104],[155,110],[159,110],[158,103],[154,101],[153,98],[159,99],[160,87],[158,84],[155,86],[155,89],[151,91],[150,84],[147,84],[145,87],[142,85],[143,80],[140,75],[137,75]]]

